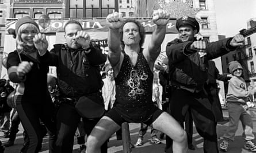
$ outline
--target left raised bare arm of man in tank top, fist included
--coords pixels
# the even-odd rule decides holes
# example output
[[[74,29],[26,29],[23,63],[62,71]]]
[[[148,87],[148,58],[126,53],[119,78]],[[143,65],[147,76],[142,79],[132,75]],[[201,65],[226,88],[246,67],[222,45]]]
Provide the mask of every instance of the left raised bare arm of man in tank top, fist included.
[[[109,34],[108,34],[108,46],[109,53],[108,58],[113,68],[120,64],[121,48],[120,48],[120,33],[119,28],[124,23],[122,13],[114,12],[106,17],[106,21],[109,22]],[[114,68],[115,69],[115,68]]]

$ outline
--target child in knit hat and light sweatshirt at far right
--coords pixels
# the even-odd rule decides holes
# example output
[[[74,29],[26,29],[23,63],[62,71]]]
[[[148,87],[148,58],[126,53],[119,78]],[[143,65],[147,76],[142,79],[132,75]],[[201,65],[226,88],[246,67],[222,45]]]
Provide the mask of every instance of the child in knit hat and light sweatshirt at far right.
[[[243,68],[238,61],[229,63],[230,73],[233,77],[228,84],[227,105],[230,123],[226,134],[223,135],[223,142],[220,143],[220,150],[227,151],[230,142],[235,139],[235,132],[238,129],[239,120],[243,125],[244,148],[250,151],[256,151],[256,146],[252,142],[254,140],[253,121],[247,113],[248,106],[246,99],[255,93],[255,89],[246,87],[246,83],[242,77]]]

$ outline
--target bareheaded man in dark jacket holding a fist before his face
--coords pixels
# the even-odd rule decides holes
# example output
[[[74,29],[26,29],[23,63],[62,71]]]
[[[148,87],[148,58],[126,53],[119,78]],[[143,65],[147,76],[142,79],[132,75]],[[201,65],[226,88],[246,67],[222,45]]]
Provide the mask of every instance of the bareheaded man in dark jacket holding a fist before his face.
[[[82,30],[78,21],[68,21],[64,30],[66,43],[54,45],[51,52],[47,52],[48,43],[44,34],[38,34],[34,40],[39,48],[40,61],[57,68],[62,104],[56,119],[58,137],[55,152],[72,152],[75,131],[81,118],[81,114],[75,108],[79,98],[89,97],[93,103],[97,103],[95,105],[101,105],[104,110],[99,65],[106,61],[106,57],[99,48],[90,44],[89,34]],[[92,109],[84,111],[97,112],[96,108]],[[94,119],[82,117],[86,134],[89,135],[101,116]],[[107,152],[106,142],[101,147],[101,152]]]

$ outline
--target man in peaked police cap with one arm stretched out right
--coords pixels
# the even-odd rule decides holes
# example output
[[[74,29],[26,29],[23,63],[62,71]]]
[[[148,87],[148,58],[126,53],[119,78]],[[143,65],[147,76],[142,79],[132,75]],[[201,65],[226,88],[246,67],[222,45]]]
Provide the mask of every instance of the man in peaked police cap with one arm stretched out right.
[[[204,138],[204,152],[219,152],[215,116],[212,101],[204,90],[208,80],[208,60],[222,56],[243,45],[240,34],[232,38],[206,43],[194,37],[200,30],[192,17],[181,17],[176,28],[179,38],[169,42],[166,54],[169,58],[169,73],[172,85],[170,99],[171,115],[183,125],[188,109],[191,110],[198,134]],[[171,152],[170,138],[166,138],[166,152]]]

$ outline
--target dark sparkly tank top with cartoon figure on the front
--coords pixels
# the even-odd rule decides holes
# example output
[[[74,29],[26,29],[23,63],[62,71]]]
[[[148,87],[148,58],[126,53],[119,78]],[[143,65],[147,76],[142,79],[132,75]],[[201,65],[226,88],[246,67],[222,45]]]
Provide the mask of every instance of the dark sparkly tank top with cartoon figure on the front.
[[[133,123],[143,123],[153,113],[152,82],[153,73],[142,53],[133,66],[124,52],[124,60],[116,81],[116,106],[114,109],[123,119]]]

